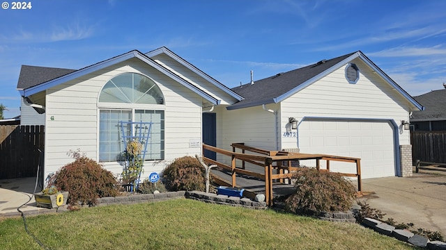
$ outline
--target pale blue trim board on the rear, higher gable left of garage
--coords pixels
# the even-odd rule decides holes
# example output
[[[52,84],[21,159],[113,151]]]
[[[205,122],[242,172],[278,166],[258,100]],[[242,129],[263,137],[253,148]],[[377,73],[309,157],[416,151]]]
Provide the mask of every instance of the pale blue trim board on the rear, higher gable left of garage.
[[[176,60],[178,63],[180,63],[184,67],[187,67],[187,69],[190,69],[195,74],[198,74],[199,76],[203,77],[206,81],[208,81],[210,83],[213,83],[213,85],[217,86],[217,88],[220,88],[220,90],[223,90],[224,92],[226,92],[226,94],[229,94],[234,99],[237,99],[238,101],[242,101],[243,100],[243,97],[241,97],[240,95],[236,94],[236,92],[233,92],[232,90],[227,88],[225,85],[223,85],[219,81],[215,80],[211,76],[208,76],[208,74],[202,72],[200,69],[198,69],[194,65],[190,64],[189,62],[187,62],[186,60],[184,60],[180,56],[176,55],[176,53],[170,51],[166,47],[161,47],[160,49],[155,49],[154,51],[148,52],[148,53],[146,53],[146,56],[151,58],[152,56],[157,56],[160,53],[165,53],[167,56],[169,56],[170,58]]]

